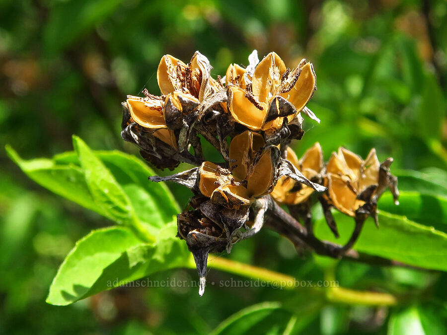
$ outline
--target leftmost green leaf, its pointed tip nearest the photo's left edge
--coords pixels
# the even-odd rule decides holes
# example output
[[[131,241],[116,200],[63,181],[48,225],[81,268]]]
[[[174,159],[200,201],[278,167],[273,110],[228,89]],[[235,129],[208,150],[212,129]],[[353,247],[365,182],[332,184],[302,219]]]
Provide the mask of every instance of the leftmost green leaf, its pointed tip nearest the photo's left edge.
[[[9,157],[37,184],[100,214],[104,211],[93,201],[82,169],[73,164],[59,166],[51,159],[23,160],[9,145]]]

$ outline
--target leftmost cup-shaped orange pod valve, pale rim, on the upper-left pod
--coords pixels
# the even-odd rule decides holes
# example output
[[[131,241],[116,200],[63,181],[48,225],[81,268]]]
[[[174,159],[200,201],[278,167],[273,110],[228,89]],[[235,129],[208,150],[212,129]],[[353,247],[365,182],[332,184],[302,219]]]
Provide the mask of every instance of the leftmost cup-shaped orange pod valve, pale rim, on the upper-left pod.
[[[128,95],[126,103],[131,118],[140,126],[149,129],[166,128],[162,100]]]

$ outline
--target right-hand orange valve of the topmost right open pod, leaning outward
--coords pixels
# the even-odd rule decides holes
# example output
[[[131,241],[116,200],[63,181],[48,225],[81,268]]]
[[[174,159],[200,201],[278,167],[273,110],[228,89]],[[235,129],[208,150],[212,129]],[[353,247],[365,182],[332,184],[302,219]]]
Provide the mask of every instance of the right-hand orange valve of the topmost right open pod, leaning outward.
[[[282,97],[289,100],[297,109],[301,111],[309,102],[316,90],[316,75],[311,63],[304,65],[299,71],[295,85],[288,92],[281,94]]]

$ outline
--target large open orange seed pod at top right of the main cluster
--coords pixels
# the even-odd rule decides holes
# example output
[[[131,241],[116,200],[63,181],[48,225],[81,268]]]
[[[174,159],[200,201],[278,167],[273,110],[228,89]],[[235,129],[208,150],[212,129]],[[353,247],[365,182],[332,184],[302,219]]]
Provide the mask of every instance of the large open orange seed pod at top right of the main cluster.
[[[291,122],[316,89],[312,64],[302,60],[290,71],[274,52],[259,62],[252,75],[231,65],[226,80],[229,113],[253,131],[279,129],[285,121]]]

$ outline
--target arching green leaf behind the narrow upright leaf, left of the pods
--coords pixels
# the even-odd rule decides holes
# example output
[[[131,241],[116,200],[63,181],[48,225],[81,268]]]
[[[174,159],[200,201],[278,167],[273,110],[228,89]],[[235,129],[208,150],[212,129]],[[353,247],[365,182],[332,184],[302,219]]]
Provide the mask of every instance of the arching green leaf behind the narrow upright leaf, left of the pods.
[[[156,224],[169,222],[172,220],[172,216],[180,212],[177,202],[166,185],[164,183],[152,183],[148,180],[148,177],[155,175],[155,173],[141,159],[121,151],[93,152],[125,190],[126,185],[139,186],[139,192],[146,199],[144,212],[155,212],[154,208],[156,208],[157,215],[161,216],[160,220],[162,222],[157,221]],[[59,164],[80,164],[76,153],[73,151],[56,155],[53,159]],[[143,191],[146,191],[146,194]],[[130,198],[132,197],[130,196]],[[132,199],[131,202],[133,202]],[[143,210],[136,210],[136,212],[138,214],[143,212]]]

